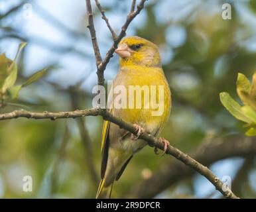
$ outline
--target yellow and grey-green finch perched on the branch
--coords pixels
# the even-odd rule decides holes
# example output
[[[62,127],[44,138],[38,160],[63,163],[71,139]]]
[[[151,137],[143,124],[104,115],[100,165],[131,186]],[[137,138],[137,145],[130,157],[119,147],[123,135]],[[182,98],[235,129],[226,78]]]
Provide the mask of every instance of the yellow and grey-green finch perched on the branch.
[[[111,197],[113,183],[119,180],[133,155],[147,145],[145,140],[138,139],[139,136],[144,132],[158,136],[168,121],[171,108],[170,88],[162,70],[159,48],[156,44],[139,36],[127,36],[119,42],[115,53],[120,57],[119,72],[113,80],[112,93],[109,92],[108,96],[107,105],[112,107],[107,110],[123,121],[131,123],[137,134],[131,134],[114,123],[104,121],[101,140],[101,182],[97,189],[97,199]],[[137,108],[133,105],[133,107],[115,108],[113,103],[118,94],[113,93],[113,89],[119,85],[124,86],[128,91],[130,86],[146,85],[149,88],[154,85],[161,86],[162,97],[157,92],[160,88],[155,93],[156,100],[163,105],[162,113],[153,115],[156,109],[149,107],[150,103],[147,105],[149,99],[145,99],[146,95],[143,92],[140,97],[144,104],[141,107]],[[149,89],[149,93],[152,95],[153,91]],[[136,96],[133,95],[131,97],[127,95],[126,98],[127,102],[130,100],[131,103],[136,100]],[[164,143],[165,152],[169,142],[164,138],[159,140]]]

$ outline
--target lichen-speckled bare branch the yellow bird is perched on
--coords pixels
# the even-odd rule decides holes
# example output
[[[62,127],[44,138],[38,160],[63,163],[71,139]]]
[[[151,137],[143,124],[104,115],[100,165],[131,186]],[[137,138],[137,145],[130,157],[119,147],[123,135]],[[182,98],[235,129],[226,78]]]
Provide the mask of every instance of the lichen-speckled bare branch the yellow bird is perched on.
[[[0,115],[0,120],[4,119],[13,119],[18,117],[26,117],[26,118],[32,118],[32,119],[61,119],[61,118],[76,118],[76,117],[84,117],[89,115],[100,115],[103,117],[104,120],[111,121],[112,123],[115,123],[116,125],[119,125],[119,127],[126,129],[127,131],[137,134],[137,129],[133,127],[133,125],[123,121],[119,117],[114,117],[111,113],[109,113],[105,109],[86,109],[86,110],[77,110],[77,111],[69,111],[69,112],[59,112],[59,113],[33,113],[29,111],[13,111],[11,113],[5,113]],[[151,134],[143,133],[141,136],[139,136],[140,139],[143,139],[148,142],[149,146],[153,146],[156,148],[159,148],[160,150],[164,150],[164,144],[159,141],[159,138],[153,137]],[[176,159],[180,160],[187,166],[190,166],[190,168],[193,168],[198,172],[199,174],[202,174],[205,178],[207,178],[215,187],[220,191],[224,197],[236,199],[238,198],[229,188],[222,189],[224,186],[223,182],[214,175],[214,173],[209,170],[206,166],[203,166],[190,156],[188,154],[185,154],[184,152],[181,152],[177,148],[174,148],[173,146],[168,146],[166,150],[166,154],[170,154],[174,156]]]

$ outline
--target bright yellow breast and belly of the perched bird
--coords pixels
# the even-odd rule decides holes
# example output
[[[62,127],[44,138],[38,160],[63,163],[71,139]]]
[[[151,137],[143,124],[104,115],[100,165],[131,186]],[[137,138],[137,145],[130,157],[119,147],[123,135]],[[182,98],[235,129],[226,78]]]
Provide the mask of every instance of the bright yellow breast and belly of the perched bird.
[[[113,115],[153,132],[166,122],[169,113],[170,89],[160,68],[119,71],[113,82]]]

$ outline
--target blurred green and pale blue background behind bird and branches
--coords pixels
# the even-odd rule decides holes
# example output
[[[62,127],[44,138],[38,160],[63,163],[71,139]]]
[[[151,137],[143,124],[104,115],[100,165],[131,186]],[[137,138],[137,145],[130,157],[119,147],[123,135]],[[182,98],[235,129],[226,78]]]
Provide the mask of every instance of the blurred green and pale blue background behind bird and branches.
[[[119,32],[131,1],[100,2],[109,22]],[[222,19],[224,3],[231,5],[230,20]],[[92,5],[104,56],[112,44],[111,34],[94,1]],[[31,111],[92,107],[92,87],[97,77],[86,23],[85,1],[82,0],[0,0],[0,53],[5,52],[8,58],[14,59],[19,43],[28,43],[19,57],[18,82],[50,67],[45,78],[22,89],[19,98],[8,101],[0,108],[0,113],[24,107],[12,104],[25,105]],[[251,78],[255,72],[255,32],[255,0],[146,2],[145,9],[129,26],[127,35],[142,36],[160,48],[172,91],[172,111],[161,136],[173,146],[191,152],[230,135],[241,137],[241,144],[247,139],[243,136],[243,123],[225,110],[219,93],[227,91],[237,99],[237,73]],[[106,79],[115,78],[118,63],[115,55],[105,70]],[[101,127],[100,117],[1,121],[0,197],[94,198],[99,182]],[[172,160],[175,159],[154,154],[153,148],[144,148],[115,183],[113,197],[126,197],[127,193],[132,193],[133,186],[150,179]],[[216,159],[210,168],[220,178],[230,176],[235,180],[248,161],[249,167],[235,191],[239,197],[253,198],[256,197],[254,154],[249,159],[238,156]],[[32,192],[23,191],[24,176],[32,177]],[[149,196],[145,194],[145,197]],[[221,195],[212,184],[194,173],[182,176],[172,186],[167,183],[151,197],[218,198]]]

